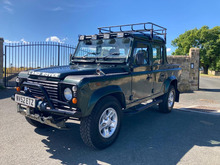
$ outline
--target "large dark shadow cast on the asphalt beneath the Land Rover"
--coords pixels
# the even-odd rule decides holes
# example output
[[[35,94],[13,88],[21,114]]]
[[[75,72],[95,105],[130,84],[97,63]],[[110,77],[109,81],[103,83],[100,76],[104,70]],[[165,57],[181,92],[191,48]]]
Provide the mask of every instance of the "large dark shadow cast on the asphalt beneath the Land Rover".
[[[175,110],[161,114],[155,108],[124,116],[117,141],[104,150],[84,145],[79,124],[69,123],[68,131],[37,128],[35,132],[47,136],[42,140],[45,150],[62,164],[177,164],[195,145],[220,146],[211,143],[219,139],[220,122],[215,117]]]

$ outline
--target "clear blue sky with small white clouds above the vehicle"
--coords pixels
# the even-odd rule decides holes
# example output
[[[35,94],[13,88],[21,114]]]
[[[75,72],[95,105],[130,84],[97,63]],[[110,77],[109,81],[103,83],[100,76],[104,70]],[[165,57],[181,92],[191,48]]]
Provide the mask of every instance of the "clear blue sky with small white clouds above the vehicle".
[[[77,45],[98,27],[153,22],[167,28],[167,51],[180,34],[220,25],[219,0],[0,0],[5,43],[54,41]]]

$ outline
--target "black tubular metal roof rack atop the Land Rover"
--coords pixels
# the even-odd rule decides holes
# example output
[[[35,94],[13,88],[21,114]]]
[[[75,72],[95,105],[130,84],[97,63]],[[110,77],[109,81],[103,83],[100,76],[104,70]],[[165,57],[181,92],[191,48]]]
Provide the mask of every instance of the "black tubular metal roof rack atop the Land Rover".
[[[157,24],[151,23],[151,22],[99,27],[98,30],[99,30],[99,34],[120,33],[120,32],[123,32],[123,33],[139,32],[141,34],[150,34],[152,39],[154,36],[163,36],[166,42],[167,29]],[[149,33],[146,33],[146,32],[149,32]]]

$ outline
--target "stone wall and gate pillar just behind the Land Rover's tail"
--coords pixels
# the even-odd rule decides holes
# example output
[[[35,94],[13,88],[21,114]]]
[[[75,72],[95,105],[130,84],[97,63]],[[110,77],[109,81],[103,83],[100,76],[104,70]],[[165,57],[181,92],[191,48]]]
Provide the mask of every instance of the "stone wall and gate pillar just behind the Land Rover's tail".
[[[191,48],[188,55],[168,56],[168,62],[182,68],[179,82],[181,92],[199,89],[199,48]]]

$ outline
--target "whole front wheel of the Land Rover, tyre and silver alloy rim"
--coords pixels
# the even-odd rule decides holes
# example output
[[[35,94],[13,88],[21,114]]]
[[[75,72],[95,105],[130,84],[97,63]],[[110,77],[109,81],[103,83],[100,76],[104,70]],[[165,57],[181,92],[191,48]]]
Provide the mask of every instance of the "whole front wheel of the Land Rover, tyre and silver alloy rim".
[[[118,137],[121,125],[121,105],[115,97],[100,100],[88,117],[81,119],[83,142],[95,149],[110,146]]]

